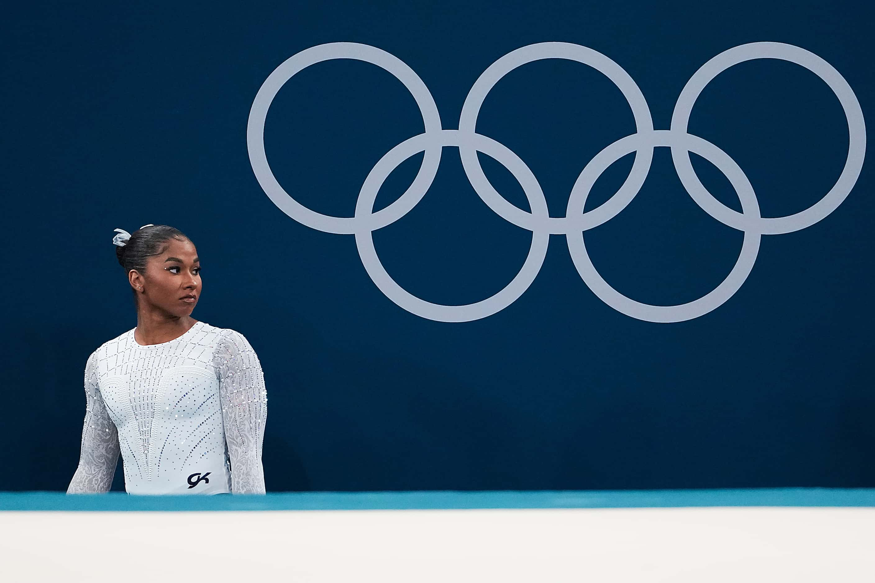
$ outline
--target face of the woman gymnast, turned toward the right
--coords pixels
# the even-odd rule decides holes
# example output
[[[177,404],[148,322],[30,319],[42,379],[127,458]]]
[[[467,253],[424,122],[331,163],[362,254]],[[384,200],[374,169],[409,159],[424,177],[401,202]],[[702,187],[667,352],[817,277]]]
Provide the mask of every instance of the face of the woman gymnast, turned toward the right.
[[[145,300],[173,316],[191,316],[201,291],[198,250],[188,239],[169,239],[163,253],[149,258],[145,278],[141,279],[141,305]],[[131,283],[137,288],[137,282]],[[194,298],[186,298],[188,295]]]

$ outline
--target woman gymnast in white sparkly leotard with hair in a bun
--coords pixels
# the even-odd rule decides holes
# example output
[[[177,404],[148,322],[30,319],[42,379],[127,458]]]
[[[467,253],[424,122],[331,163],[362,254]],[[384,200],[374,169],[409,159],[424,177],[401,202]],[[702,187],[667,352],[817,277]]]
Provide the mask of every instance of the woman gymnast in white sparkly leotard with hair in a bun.
[[[263,494],[267,391],[255,350],[240,332],[191,316],[202,284],[185,234],[166,225],[116,232],[137,327],[88,357],[67,494],[108,491],[120,451],[129,494]]]

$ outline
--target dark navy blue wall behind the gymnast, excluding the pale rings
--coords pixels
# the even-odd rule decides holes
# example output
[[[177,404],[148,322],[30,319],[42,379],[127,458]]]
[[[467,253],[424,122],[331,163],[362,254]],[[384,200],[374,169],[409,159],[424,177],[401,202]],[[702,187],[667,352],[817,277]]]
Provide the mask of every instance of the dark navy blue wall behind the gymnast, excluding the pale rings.
[[[763,236],[739,291],[704,316],[650,323],[612,309],[581,280],[564,237],[550,235],[540,274],[518,300],[443,323],[388,300],[353,235],[283,214],[247,149],[262,82],[291,55],[337,41],[373,45],[411,67],[444,128],[458,127],[487,66],[544,41],[613,59],[659,129],[700,66],[755,41],[816,53],[868,115],[872,16],[861,3],[770,0],[8,7],[0,489],[66,489],[85,361],[136,325],[113,229],[146,223],[176,226],[198,247],[204,294],[193,316],[239,330],[258,352],[269,490],[875,486],[871,163],[828,217]],[[562,217],[586,163],[635,124],[602,73],[548,59],[500,80],[477,129],[528,164],[550,215]],[[348,217],[374,163],[422,131],[398,80],[339,59],[279,90],[264,144],[298,202]],[[732,156],[764,217],[823,198],[848,154],[830,87],[776,59],[720,73],[693,108],[690,134]],[[740,212],[729,181],[692,157],[703,183]],[[613,195],[633,158],[598,179],[587,210]],[[377,208],[401,195],[422,159],[392,173]],[[480,160],[528,211],[511,174]],[[614,288],[672,305],[723,281],[743,233],[703,212],[669,149],[657,148],[638,196],[585,237]],[[448,147],[423,200],[374,232],[374,245],[410,293],[463,304],[511,281],[531,238],[480,200]],[[123,489],[121,471],[114,488]]]

